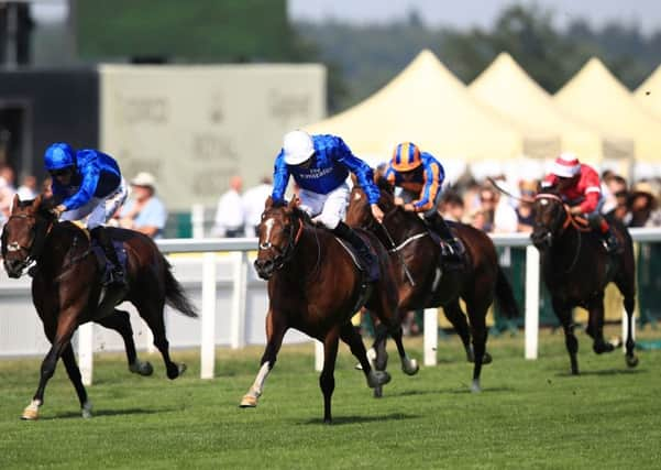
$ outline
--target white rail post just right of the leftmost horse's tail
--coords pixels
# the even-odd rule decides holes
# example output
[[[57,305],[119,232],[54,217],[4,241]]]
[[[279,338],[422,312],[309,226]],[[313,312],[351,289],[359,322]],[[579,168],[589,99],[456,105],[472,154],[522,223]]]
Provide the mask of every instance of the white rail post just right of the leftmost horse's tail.
[[[216,365],[216,253],[202,255],[200,379],[213,379]]]

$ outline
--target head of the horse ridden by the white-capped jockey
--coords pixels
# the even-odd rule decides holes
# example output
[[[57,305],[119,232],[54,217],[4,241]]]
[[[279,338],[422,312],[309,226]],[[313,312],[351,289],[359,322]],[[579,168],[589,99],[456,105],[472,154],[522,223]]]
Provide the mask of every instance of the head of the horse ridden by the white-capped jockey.
[[[298,198],[286,206],[274,204],[271,196],[266,199],[257,229],[260,247],[255,260],[255,270],[263,280],[271,278],[294,255],[305,220],[298,204]]]

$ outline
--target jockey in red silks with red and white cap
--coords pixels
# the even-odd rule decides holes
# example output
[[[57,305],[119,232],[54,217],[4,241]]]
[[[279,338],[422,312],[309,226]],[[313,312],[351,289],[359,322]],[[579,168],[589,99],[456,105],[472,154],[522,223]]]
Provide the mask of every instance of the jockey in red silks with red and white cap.
[[[601,234],[608,252],[617,251],[617,238],[601,214],[605,199],[599,175],[592,166],[579,162],[572,153],[563,153],[555,159],[551,173],[542,182],[542,187],[550,186],[558,189],[572,215],[585,216],[590,226]]]

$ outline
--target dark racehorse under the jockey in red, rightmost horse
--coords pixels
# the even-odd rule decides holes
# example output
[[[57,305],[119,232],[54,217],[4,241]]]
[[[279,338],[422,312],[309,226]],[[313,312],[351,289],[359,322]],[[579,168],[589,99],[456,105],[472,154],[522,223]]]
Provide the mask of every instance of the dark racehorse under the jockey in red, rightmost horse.
[[[597,354],[615,349],[613,343],[604,339],[604,289],[609,282],[615,282],[624,296],[627,311],[625,359],[627,365],[636,367],[638,358],[634,352],[636,345],[631,335],[636,265],[629,232],[617,220],[609,218],[608,222],[615,230],[621,250],[607,253],[586,220],[574,218],[569,206],[552,188],[536,196],[535,211],[531,239],[540,252],[542,276],[551,294],[553,310],[564,330],[572,374],[579,374],[579,341],[574,336],[572,308],[580,306],[587,309],[586,332],[593,338],[592,348]]]

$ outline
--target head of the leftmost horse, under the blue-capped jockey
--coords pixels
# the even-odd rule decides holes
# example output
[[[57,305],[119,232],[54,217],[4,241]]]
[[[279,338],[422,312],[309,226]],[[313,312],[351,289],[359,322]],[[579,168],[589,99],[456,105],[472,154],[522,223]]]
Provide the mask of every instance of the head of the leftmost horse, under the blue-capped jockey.
[[[55,222],[51,206],[51,200],[42,195],[23,201],[14,196],[1,237],[2,260],[10,277],[20,277],[25,267],[40,258],[46,234]]]

